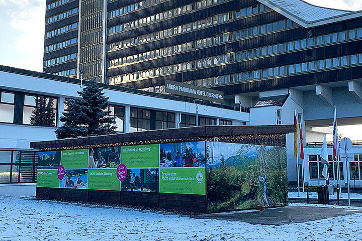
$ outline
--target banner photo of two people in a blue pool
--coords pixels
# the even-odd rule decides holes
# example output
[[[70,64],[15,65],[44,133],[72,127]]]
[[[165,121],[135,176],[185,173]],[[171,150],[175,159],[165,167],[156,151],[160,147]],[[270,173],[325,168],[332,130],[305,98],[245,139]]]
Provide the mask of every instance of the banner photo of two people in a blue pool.
[[[87,189],[88,170],[66,170],[60,188]]]

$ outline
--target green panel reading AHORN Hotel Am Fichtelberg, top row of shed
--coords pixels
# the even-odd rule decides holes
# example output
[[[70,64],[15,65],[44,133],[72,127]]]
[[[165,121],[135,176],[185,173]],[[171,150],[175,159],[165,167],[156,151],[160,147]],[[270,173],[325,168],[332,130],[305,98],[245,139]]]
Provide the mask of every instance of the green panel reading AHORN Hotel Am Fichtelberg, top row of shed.
[[[158,168],[159,144],[122,147],[121,163],[127,168]]]

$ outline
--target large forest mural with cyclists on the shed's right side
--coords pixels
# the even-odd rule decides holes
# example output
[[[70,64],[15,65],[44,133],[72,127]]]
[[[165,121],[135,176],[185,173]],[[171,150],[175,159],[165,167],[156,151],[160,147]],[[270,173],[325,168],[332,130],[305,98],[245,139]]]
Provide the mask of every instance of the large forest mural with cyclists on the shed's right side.
[[[207,142],[207,211],[285,206],[285,147]]]

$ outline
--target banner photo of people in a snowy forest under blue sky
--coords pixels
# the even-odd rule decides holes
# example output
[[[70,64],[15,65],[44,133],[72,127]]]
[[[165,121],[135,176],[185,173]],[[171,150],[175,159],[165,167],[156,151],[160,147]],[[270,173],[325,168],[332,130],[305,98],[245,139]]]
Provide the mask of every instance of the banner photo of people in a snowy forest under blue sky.
[[[205,142],[160,144],[160,167],[205,167]]]

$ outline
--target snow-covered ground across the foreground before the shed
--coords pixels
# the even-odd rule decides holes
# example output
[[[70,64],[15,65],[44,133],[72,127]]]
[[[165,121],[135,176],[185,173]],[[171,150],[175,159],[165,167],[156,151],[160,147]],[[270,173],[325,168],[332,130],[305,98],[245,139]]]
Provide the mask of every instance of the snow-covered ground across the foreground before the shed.
[[[267,226],[11,197],[0,197],[0,226],[0,240],[362,240],[360,213]]]

